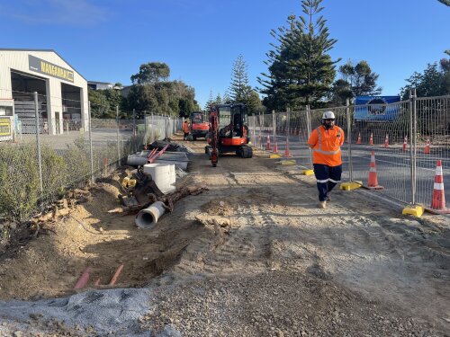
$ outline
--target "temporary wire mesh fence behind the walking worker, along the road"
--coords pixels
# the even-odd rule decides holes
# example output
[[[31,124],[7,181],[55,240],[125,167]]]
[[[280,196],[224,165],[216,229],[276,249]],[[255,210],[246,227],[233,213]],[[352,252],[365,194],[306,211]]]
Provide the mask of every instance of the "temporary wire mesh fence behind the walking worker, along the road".
[[[365,118],[359,117],[365,110]],[[390,104],[285,111],[249,117],[250,137],[260,150],[295,160],[312,168],[307,144],[320,126],[324,111],[333,111],[344,130],[343,181],[361,181],[365,187],[405,203],[432,203],[437,161],[442,163],[446,200],[450,200],[450,96],[418,98]],[[275,146],[276,144],[276,146]],[[377,186],[369,186],[374,153]]]

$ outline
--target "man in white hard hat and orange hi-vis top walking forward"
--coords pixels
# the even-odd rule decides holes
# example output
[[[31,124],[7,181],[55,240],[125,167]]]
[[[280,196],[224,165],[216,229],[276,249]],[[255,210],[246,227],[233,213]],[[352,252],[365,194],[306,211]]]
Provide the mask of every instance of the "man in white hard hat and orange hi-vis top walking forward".
[[[322,125],[312,130],[308,139],[308,145],[312,149],[320,208],[327,207],[328,194],[340,181],[342,173],[340,146],[344,143],[344,131],[335,125],[335,120],[332,111],[325,111],[322,115]]]

